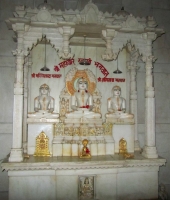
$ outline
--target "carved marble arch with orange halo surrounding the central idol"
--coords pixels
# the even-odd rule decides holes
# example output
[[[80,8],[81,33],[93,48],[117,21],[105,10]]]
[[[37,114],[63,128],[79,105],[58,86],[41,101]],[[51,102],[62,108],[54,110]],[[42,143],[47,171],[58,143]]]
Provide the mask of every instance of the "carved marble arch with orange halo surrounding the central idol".
[[[88,82],[88,92],[93,96],[93,112],[101,113],[101,93],[96,87],[96,77],[89,69],[78,70],[73,67],[66,75],[65,87],[60,93],[60,116],[65,116],[66,113],[71,111],[71,95],[74,94],[76,80],[84,77]]]

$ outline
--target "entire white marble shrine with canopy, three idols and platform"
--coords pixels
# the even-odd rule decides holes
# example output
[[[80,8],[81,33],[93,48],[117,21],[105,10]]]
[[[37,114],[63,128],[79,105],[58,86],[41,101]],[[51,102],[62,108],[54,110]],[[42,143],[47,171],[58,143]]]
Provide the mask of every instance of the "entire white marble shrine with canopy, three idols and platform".
[[[164,30],[155,19],[44,1],[15,6],[5,22],[17,42],[12,147],[1,163],[9,200],[158,199],[166,159],[155,139],[153,43]]]

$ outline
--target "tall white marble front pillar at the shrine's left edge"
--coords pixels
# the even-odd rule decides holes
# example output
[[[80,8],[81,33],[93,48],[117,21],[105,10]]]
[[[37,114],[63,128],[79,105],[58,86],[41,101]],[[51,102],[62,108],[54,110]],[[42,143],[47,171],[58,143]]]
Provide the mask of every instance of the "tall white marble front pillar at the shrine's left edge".
[[[25,25],[16,23],[17,49],[13,51],[16,56],[16,71],[14,83],[14,105],[13,105],[13,143],[9,157],[9,162],[21,162],[23,160],[22,149],[22,122],[23,122],[23,37]]]

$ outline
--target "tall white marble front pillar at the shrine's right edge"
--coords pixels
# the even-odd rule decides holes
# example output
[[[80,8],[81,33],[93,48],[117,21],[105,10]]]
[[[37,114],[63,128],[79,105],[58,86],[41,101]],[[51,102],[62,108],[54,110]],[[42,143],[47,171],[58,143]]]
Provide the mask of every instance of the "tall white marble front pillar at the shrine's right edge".
[[[145,33],[143,38],[146,39],[146,56],[143,56],[146,68],[145,80],[145,147],[142,155],[146,158],[157,158],[155,143],[155,90],[153,85],[153,62],[152,41],[156,39],[155,33]]]

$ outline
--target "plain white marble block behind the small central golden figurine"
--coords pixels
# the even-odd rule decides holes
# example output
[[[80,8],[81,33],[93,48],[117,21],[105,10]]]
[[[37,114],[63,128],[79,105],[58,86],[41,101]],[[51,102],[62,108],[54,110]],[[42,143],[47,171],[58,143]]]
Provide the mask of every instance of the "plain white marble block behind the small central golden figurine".
[[[55,136],[52,141],[53,156],[79,156],[83,139],[89,140],[92,156],[114,155],[113,137],[108,136]]]

